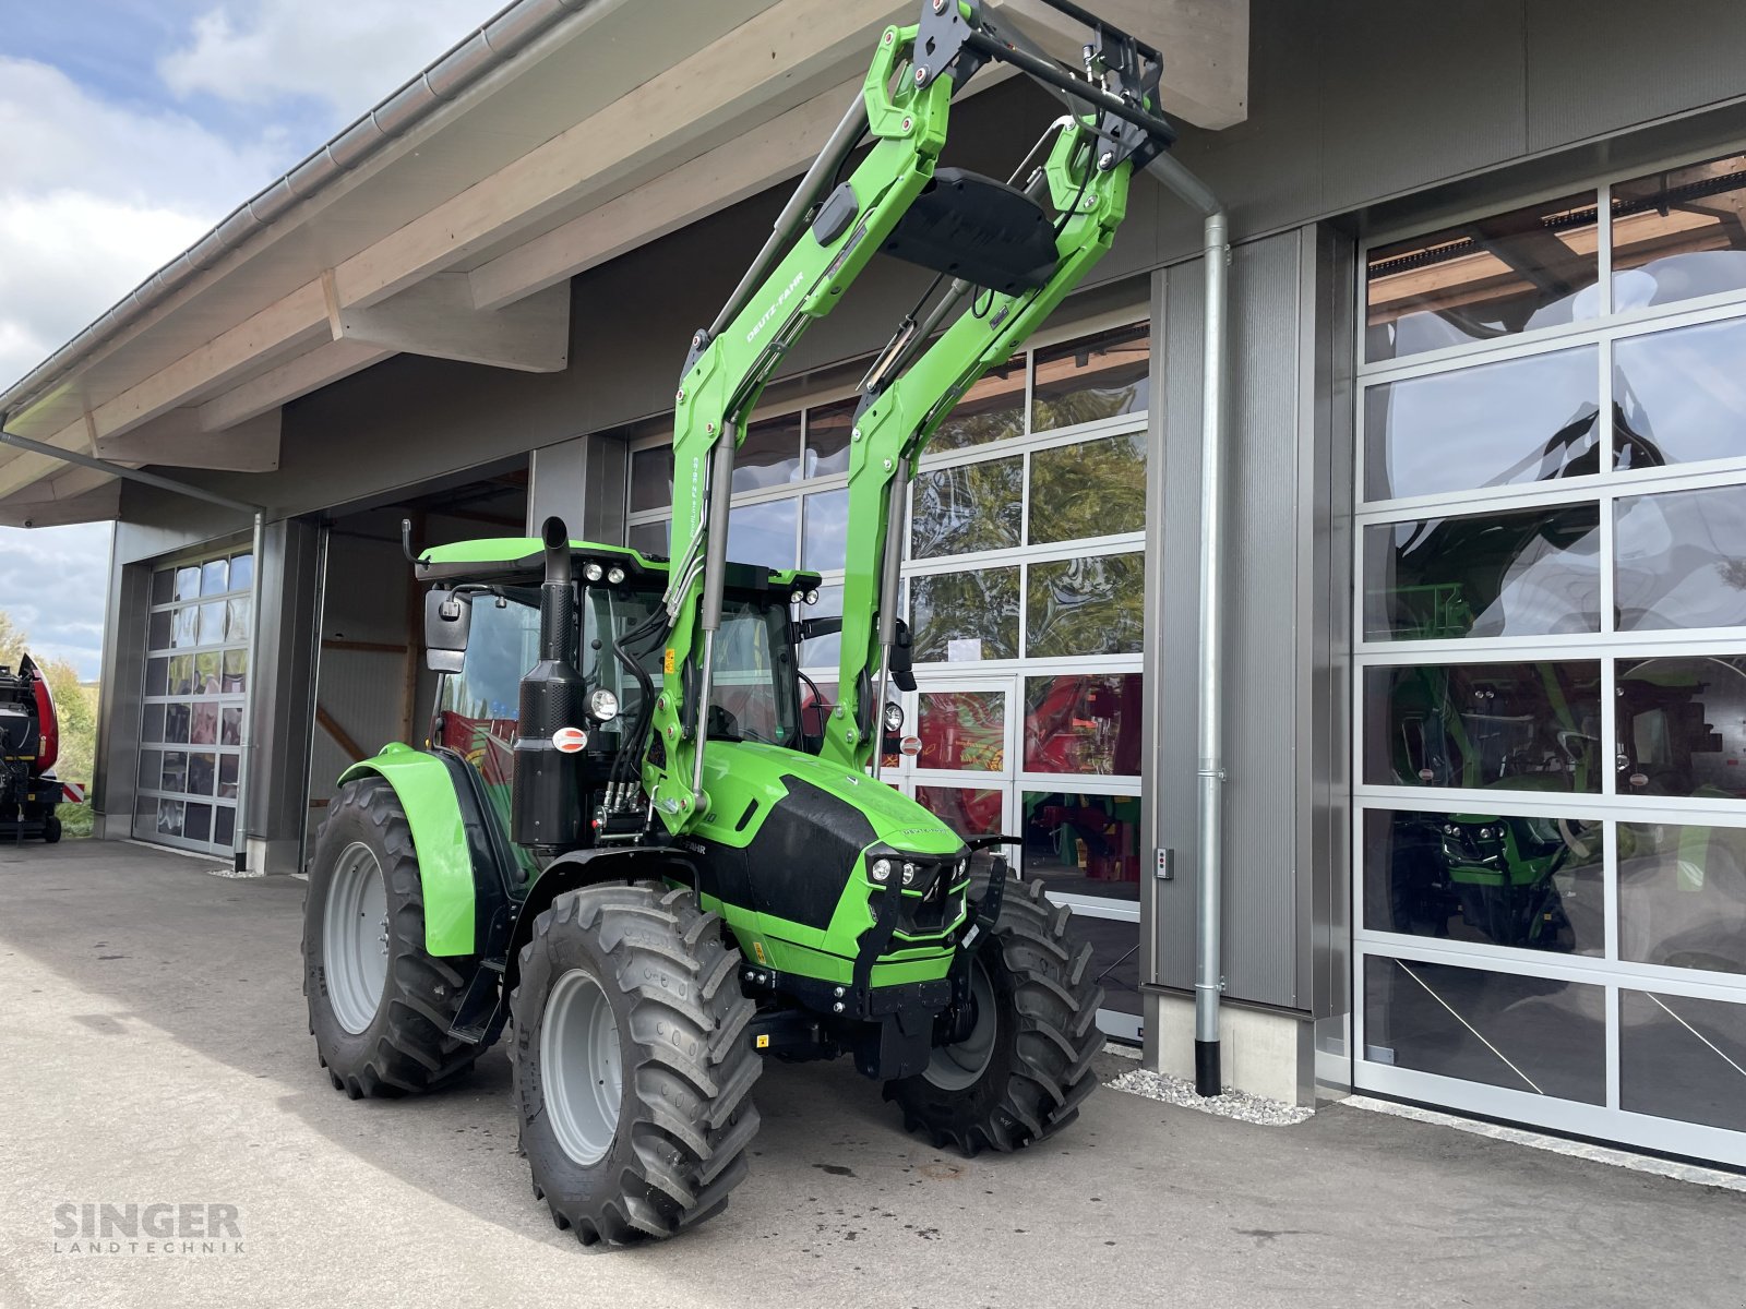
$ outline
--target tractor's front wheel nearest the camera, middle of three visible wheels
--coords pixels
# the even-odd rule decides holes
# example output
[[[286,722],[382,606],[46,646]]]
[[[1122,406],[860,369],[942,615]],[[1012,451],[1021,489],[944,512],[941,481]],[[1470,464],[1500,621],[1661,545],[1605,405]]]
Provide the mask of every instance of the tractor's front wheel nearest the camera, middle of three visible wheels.
[[[569,890],[534,920],[510,995],[522,1152],[587,1244],[676,1236],[746,1178],[763,1070],[739,951],[688,890]]]

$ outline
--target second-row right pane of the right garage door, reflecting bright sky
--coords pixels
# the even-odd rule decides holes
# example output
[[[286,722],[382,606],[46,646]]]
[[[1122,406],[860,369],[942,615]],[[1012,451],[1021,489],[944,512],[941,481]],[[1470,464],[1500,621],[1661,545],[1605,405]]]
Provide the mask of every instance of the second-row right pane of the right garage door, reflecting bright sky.
[[[1741,255],[1746,260],[1746,253]],[[1620,468],[1746,456],[1746,321],[1613,342]]]

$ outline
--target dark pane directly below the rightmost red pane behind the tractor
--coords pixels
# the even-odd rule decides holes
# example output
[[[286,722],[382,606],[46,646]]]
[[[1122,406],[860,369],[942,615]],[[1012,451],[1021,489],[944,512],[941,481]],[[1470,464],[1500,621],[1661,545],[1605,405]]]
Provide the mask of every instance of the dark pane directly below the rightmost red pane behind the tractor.
[[[1027,791],[1025,878],[1051,894],[1140,899],[1140,798]]]

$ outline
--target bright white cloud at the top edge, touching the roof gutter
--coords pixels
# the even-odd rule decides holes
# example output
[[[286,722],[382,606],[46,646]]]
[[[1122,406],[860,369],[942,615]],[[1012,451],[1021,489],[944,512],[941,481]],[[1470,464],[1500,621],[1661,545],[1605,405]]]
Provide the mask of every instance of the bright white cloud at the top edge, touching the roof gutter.
[[[503,0],[255,0],[218,5],[159,61],[178,96],[244,105],[311,96],[351,119],[436,59]]]

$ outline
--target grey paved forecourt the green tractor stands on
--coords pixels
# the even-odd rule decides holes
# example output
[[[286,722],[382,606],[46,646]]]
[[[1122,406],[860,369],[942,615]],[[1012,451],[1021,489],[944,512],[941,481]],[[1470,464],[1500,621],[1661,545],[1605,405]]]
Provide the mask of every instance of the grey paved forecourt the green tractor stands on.
[[[766,1070],[725,1215],[590,1253],[533,1199],[501,1049],[424,1100],[330,1089],[302,881],[66,841],[0,846],[0,888],[9,1309],[1746,1302],[1741,1192],[1350,1107],[1255,1127],[1116,1091],[964,1161],[843,1065]],[[243,1251],[56,1253],[56,1204],[127,1201],[236,1204]]]

